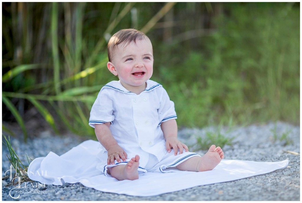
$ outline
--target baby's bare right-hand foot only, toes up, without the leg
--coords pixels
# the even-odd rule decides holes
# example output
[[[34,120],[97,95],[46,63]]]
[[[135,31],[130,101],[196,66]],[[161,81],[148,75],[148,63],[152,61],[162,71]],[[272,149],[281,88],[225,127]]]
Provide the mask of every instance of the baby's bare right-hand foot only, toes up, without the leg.
[[[210,146],[209,151],[201,157],[200,162],[198,163],[198,170],[200,172],[210,171],[214,169],[223,158],[224,155],[222,149],[212,145]]]

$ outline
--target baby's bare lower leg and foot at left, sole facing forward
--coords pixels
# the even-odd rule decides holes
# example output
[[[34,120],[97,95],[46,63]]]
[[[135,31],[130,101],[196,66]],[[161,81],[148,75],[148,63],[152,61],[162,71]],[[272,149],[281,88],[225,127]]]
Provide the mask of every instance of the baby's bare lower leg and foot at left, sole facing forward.
[[[138,166],[140,157],[136,155],[126,165],[117,165],[109,169],[109,173],[117,180],[136,180],[138,179]]]

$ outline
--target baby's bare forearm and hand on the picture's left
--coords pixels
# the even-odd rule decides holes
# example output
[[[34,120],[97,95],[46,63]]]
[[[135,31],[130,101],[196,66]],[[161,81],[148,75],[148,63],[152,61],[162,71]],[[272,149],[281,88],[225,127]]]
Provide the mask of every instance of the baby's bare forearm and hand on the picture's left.
[[[120,159],[126,161],[127,153],[122,149],[112,136],[109,129],[110,122],[104,124],[95,124],[95,135],[102,146],[108,151],[107,164],[114,164],[114,160],[121,162]]]

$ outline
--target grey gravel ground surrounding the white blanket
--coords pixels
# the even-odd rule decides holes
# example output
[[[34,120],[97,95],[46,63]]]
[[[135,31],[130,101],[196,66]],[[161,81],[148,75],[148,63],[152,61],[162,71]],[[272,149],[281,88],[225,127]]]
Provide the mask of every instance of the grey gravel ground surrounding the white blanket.
[[[196,135],[205,136],[207,132],[216,132],[217,128],[183,129],[178,137],[187,145],[196,143]],[[186,190],[151,197],[135,197],[100,192],[86,188],[82,184],[65,183],[62,186],[36,186],[37,182],[24,182],[20,192],[12,190],[8,178],[2,180],[2,200],[12,201],[300,201],[300,126],[288,123],[268,123],[250,125],[233,129],[220,129],[222,135],[234,137],[232,146],[223,146],[225,159],[251,160],[259,162],[275,162],[289,160],[285,169],[257,175],[241,180],[212,185],[198,186]],[[283,138],[282,138],[283,137]],[[18,139],[11,143],[18,155],[27,154],[32,159],[46,156],[50,151],[61,155],[78,145],[85,139],[76,136],[52,136],[43,132],[33,140],[24,144]],[[192,150],[193,151],[193,150]],[[294,154],[296,152],[298,154]],[[205,151],[198,151],[203,155]],[[2,177],[10,167],[5,154],[6,146],[2,144]],[[24,159],[24,156],[21,156]],[[8,184],[8,185],[7,185]],[[15,192],[14,192],[15,191]]]

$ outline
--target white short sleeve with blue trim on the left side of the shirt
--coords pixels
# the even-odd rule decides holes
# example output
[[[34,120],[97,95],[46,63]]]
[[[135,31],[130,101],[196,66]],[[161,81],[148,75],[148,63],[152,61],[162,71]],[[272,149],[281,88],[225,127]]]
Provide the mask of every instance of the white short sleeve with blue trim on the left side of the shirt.
[[[114,120],[113,108],[113,100],[108,89],[102,89],[92,105],[89,126],[94,128],[95,124],[112,122]]]

